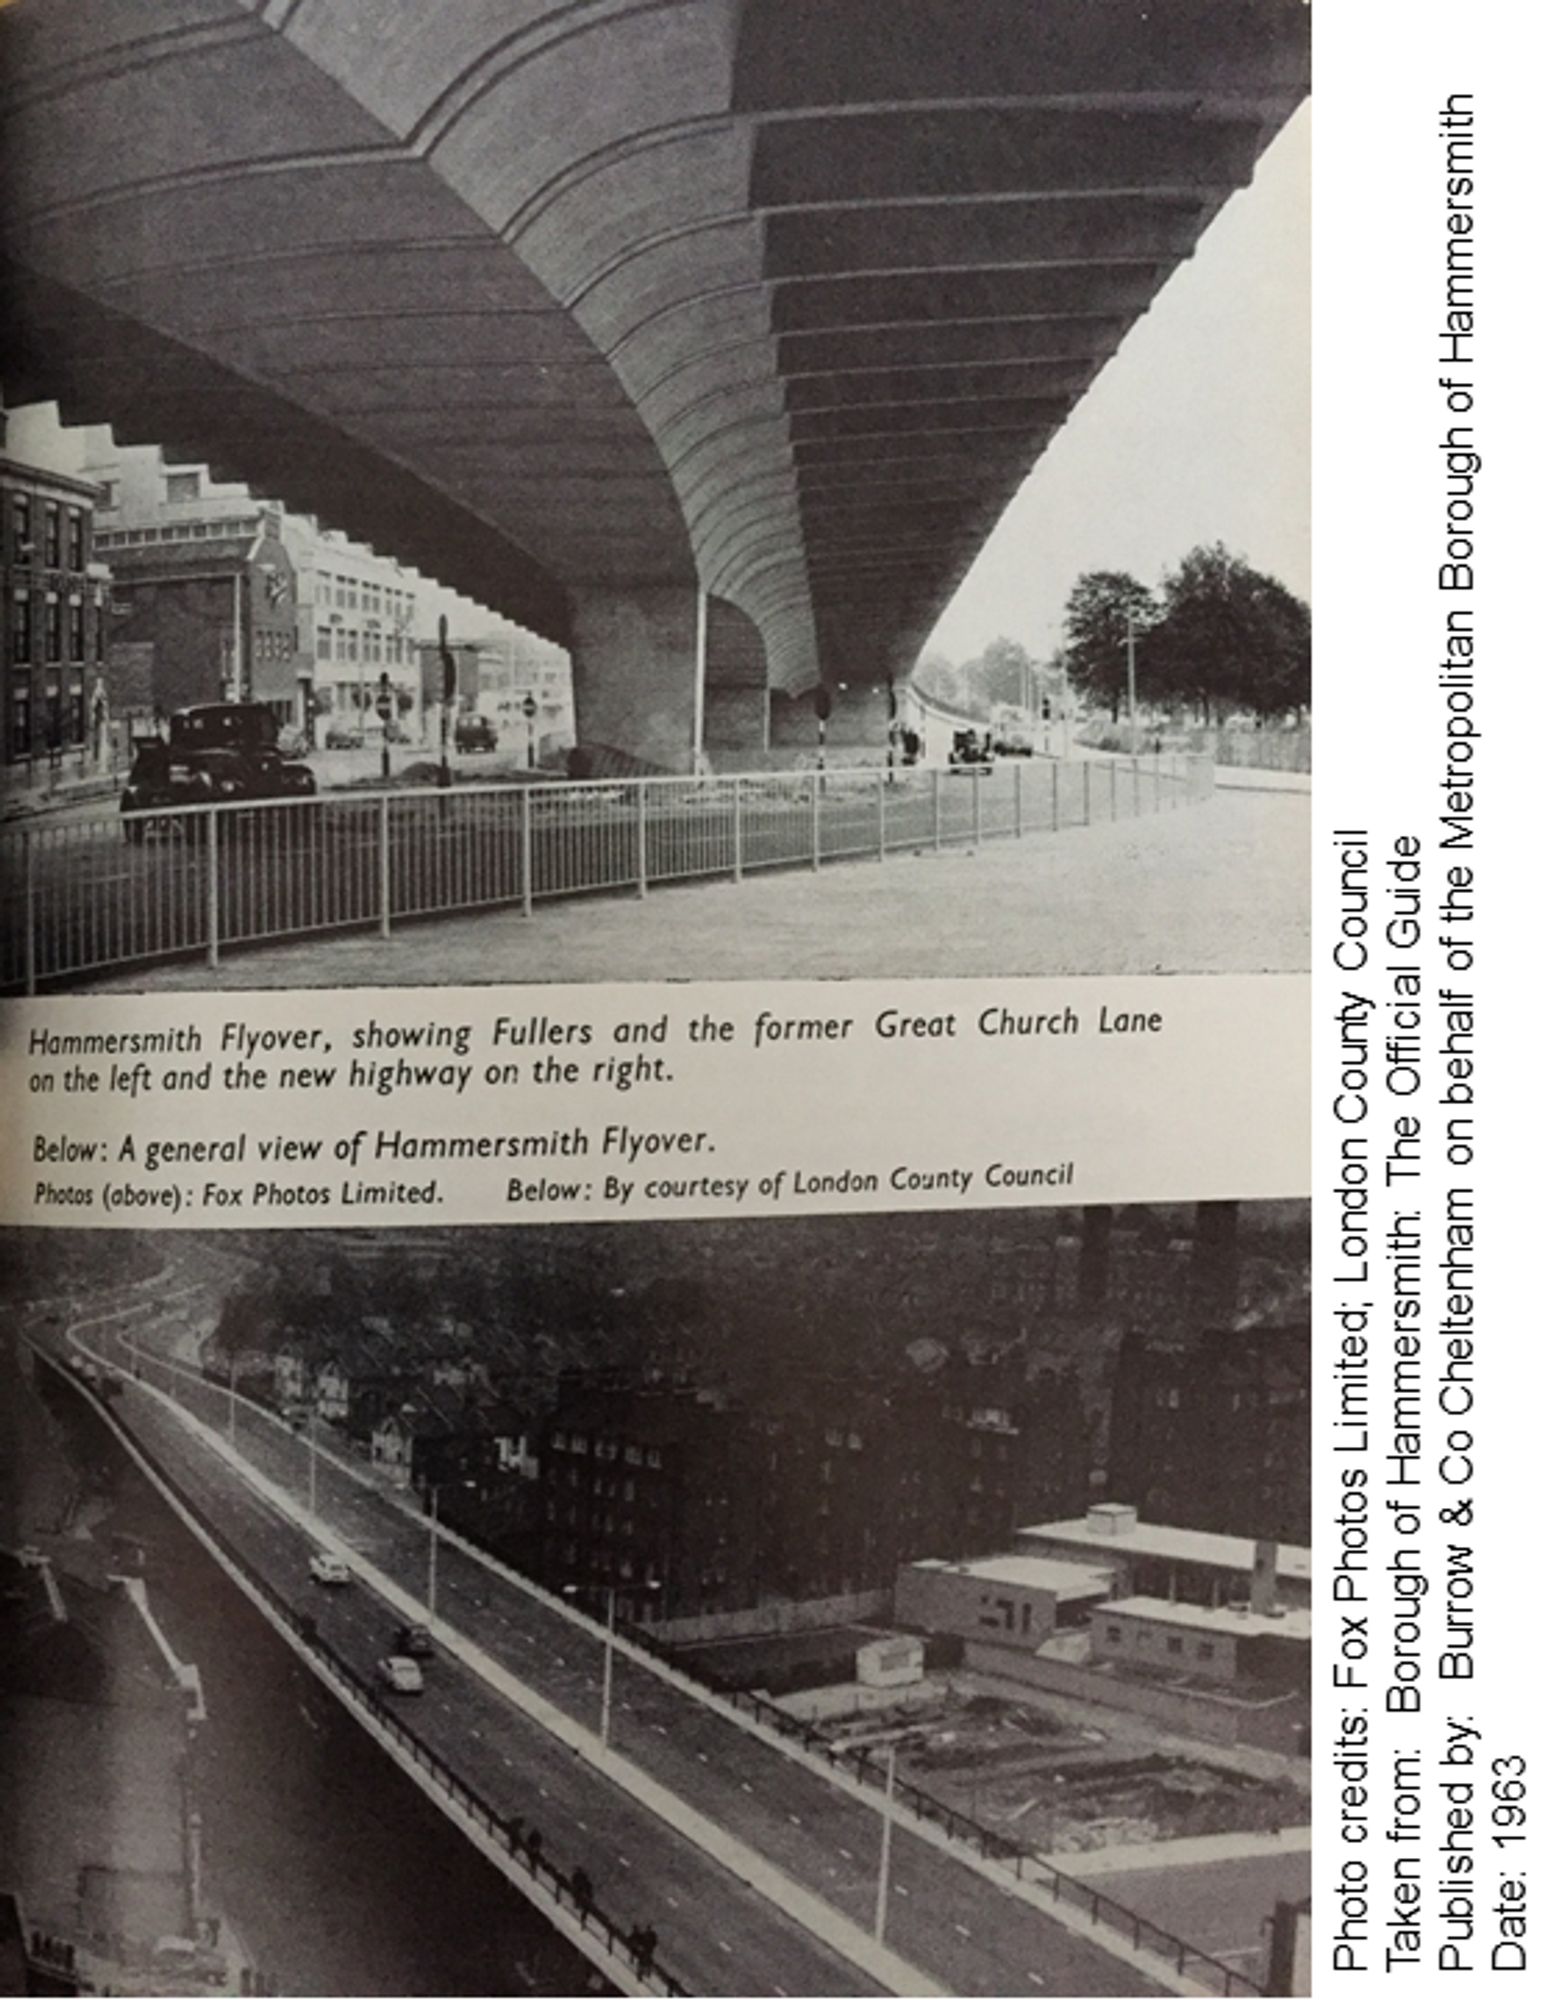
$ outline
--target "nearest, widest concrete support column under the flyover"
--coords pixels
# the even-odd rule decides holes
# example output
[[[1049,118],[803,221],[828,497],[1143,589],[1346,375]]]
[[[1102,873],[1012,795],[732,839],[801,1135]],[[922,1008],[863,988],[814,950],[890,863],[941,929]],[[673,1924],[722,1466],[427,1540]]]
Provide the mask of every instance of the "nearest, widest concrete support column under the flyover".
[[[574,732],[582,762],[690,772],[704,680],[700,592],[688,584],[570,596]]]

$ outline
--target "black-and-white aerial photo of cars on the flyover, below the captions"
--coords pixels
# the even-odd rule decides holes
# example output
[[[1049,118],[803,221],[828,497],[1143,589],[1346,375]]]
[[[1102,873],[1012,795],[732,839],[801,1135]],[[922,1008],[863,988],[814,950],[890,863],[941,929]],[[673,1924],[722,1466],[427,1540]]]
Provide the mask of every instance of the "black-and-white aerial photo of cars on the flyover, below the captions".
[[[8,1232],[8,1992],[1309,1992],[1307,1202]]]

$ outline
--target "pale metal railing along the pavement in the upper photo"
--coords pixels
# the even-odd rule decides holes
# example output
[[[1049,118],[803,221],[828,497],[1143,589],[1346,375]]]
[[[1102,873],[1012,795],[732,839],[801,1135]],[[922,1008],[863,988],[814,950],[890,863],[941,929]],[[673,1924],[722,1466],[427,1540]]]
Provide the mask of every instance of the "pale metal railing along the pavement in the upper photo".
[[[1201,756],[336,792],[0,834],[0,990],[336,930],[1169,812]]]

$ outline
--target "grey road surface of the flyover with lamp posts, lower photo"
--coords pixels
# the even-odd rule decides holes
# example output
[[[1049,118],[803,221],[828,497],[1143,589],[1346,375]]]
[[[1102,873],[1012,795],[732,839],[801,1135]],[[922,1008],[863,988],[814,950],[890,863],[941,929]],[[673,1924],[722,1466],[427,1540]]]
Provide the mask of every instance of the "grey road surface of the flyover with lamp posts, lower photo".
[[[128,1324],[136,1318],[144,1316]],[[80,1330],[106,1362],[128,1362],[108,1334],[108,1324]],[[298,1608],[318,1598],[330,1644],[340,1638],[344,1656],[370,1670],[404,1604],[426,1600],[428,1524],[324,1452],[314,1454],[310,1512],[310,1454],[296,1436],[242,1398],[230,1406],[220,1388],[176,1364],[146,1358],[140,1366],[146,1378],[118,1398],[120,1420],[182,1486],[198,1482],[202,1510],[244,1538],[250,1560]],[[178,1406],[160,1384],[172,1386]],[[320,1542],[350,1550],[358,1584],[326,1592],[308,1582],[308,1552]],[[440,1754],[456,1768],[462,1758],[476,1760],[484,1790],[498,1786],[504,1810],[558,1828],[548,1832],[550,1850],[560,1840],[578,1842],[602,1904],[624,1922],[656,1922],[668,1968],[696,1990],[1207,1990],[1127,1938],[1093,1930],[1079,1910],[1053,1914],[1035,1886],[1021,1892],[995,1868],[899,1822],[889,1956],[879,1956],[883,1812],[873,1796],[738,1728],[718,1702],[694,1698],[622,1648],[610,1756],[626,1760],[630,1772],[614,1784],[578,1742],[558,1740],[560,1730],[564,1738],[570,1728],[596,1732],[600,1628],[448,1540],[436,1554],[436,1632],[442,1646],[430,1694],[406,1704],[412,1724],[422,1728],[426,1716]],[[516,1704],[520,1688],[524,1702]],[[562,1722],[538,1726],[528,1704]],[[734,1858],[732,1872],[722,1870],[686,1830],[646,1814],[634,1796],[640,1782],[674,1796],[690,1826],[722,1828],[732,1854],[748,1860]],[[758,1894],[742,1876],[766,1882],[768,1892]],[[692,1958],[682,1954],[684,1926]],[[915,1968],[911,1980],[897,1978],[895,1966]]]

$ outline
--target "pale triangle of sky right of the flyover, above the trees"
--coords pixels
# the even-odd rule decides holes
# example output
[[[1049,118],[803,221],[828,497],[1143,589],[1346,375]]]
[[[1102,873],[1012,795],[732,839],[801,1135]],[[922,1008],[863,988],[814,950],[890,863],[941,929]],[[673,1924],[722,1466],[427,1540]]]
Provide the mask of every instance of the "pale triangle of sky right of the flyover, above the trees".
[[[1225,542],[1311,596],[1311,106],[1231,196],[1015,494],[927,652],[1047,658],[1085,570]]]

